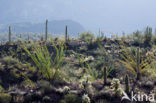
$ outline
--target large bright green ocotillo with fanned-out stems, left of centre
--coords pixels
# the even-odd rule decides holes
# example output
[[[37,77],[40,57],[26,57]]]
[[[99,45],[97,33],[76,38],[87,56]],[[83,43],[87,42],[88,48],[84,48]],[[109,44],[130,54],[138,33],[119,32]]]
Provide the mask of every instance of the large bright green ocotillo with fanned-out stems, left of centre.
[[[52,43],[52,46],[55,49],[54,56],[49,52],[46,44],[37,45],[34,43],[33,45],[33,53],[26,47],[24,47],[24,50],[28,53],[39,71],[42,73],[43,78],[51,81],[55,78],[60,69],[60,66],[63,64],[63,43],[59,43],[58,45]]]

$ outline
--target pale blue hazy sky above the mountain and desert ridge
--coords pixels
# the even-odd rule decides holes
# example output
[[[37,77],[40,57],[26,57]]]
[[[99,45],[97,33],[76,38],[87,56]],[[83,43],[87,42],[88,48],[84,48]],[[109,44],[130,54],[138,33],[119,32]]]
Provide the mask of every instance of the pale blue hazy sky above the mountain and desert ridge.
[[[0,0],[0,24],[71,19],[86,30],[156,27],[156,0]]]

